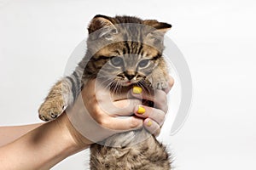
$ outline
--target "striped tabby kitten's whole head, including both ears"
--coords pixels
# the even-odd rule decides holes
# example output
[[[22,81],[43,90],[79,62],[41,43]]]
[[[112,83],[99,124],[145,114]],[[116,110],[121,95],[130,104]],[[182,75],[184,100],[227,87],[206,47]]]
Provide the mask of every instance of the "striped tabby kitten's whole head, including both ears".
[[[89,26],[87,46],[93,56],[85,71],[109,86],[143,83],[162,59],[170,27],[156,20],[96,16]]]

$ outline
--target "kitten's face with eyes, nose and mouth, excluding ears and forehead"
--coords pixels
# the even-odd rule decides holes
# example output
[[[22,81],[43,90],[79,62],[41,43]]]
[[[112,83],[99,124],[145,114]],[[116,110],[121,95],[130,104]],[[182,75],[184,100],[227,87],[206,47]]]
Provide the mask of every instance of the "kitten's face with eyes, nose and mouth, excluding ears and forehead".
[[[125,45],[130,48],[130,53]],[[137,50],[140,48],[140,50]],[[137,53],[131,53],[136,52]],[[143,42],[117,42],[110,44],[95,56],[96,65],[102,65],[98,77],[104,77],[108,82],[114,82],[120,86],[130,86],[131,84],[143,82],[148,75],[158,65],[160,52],[155,48],[149,47]],[[97,64],[98,62],[98,64]]]

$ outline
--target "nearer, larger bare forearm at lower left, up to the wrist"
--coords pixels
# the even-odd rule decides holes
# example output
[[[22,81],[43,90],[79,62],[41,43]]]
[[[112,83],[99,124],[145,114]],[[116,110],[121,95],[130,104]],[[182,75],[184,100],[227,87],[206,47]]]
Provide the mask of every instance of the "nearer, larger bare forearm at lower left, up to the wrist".
[[[3,169],[49,169],[59,161],[83,150],[69,129],[58,123],[63,119],[44,123],[20,139],[0,148],[0,165]],[[59,119],[58,118],[58,119]]]

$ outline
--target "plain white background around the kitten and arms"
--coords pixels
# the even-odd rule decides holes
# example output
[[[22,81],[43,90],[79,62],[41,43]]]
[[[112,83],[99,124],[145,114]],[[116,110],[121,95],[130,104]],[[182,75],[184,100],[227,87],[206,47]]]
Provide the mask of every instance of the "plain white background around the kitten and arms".
[[[177,169],[255,169],[255,5],[253,0],[0,0],[0,126],[39,122],[38,106],[95,14],[137,15],[172,24],[167,35],[192,73],[189,118],[179,133],[166,137]],[[53,169],[85,169],[85,155]]]

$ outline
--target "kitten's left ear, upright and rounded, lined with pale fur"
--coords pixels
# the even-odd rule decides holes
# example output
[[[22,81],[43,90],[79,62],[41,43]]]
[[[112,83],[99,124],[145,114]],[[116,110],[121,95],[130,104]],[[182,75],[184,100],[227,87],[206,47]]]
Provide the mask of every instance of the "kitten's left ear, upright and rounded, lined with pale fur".
[[[89,34],[93,33],[94,39],[105,37],[112,39],[114,34],[117,34],[117,28],[114,26],[115,21],[108,16],[97,14],[91,21],[88,27]]]

